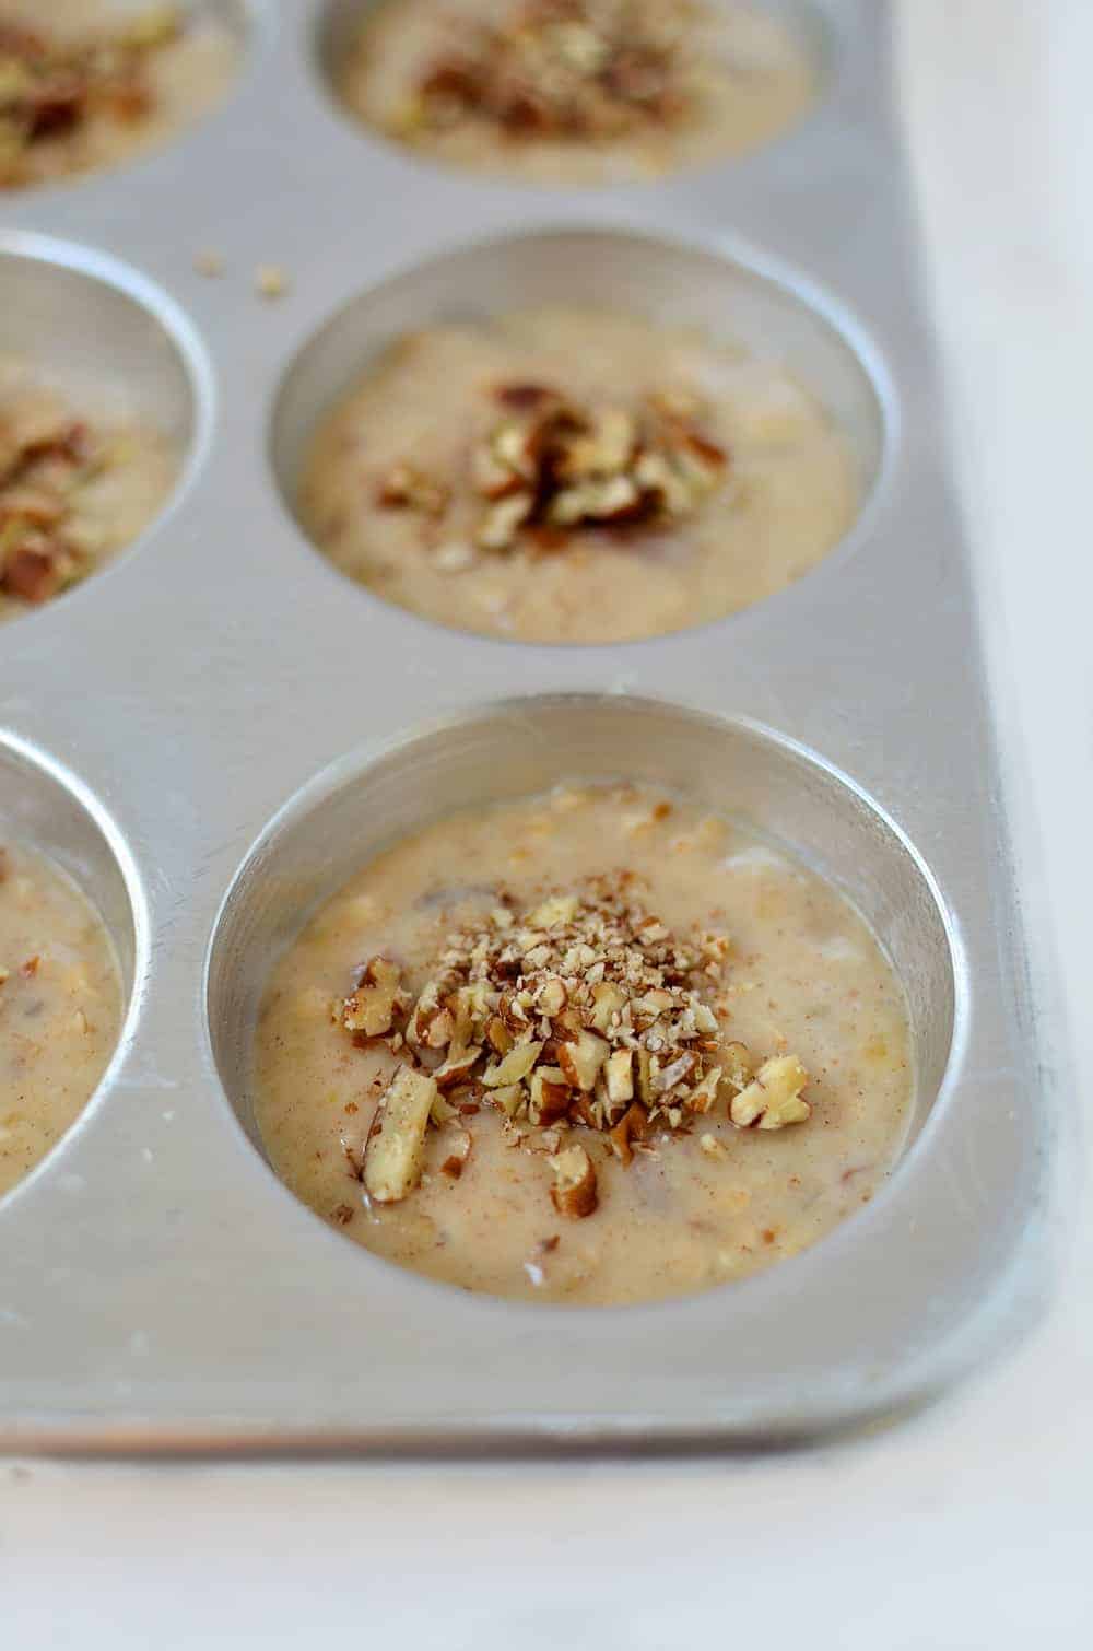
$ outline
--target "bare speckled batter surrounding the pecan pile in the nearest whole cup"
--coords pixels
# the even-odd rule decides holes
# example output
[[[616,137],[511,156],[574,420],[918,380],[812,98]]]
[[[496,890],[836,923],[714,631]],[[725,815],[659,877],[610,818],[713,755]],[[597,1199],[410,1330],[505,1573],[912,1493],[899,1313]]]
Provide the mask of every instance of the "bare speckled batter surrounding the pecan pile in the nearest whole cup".
[[[533,1301],[627,1303],[677,1296],[796,1255],[873,1197],[911,1108],[906,1007],[849,901],[750,832],[634,788],[563,788],[548,797],[441,821],[375,859],[276,964],[256,1038],[256,1118],[292,1192],[365,1248],[466,1289]],[[350,1159],[368,1138],[395,1067],[332,1022],[355,969],[385,953],[414,989],[442,938],[504,887],[517,900],[629,870],[677,934],[731,936],[723,1032],[811,1075],[812,1116],[778,1133],[736,1129],[725,1100],[688,1133],[660,1131],[629,1166],[608,1138],[580,1139],[599,1207],[551,1207],[543,1131],[512,1144],[499,1113],[431,1129],[421,1185],[370,1202]],[[439,1172],[462,1133],[459,1179]],[[710,1149],[703,1136],[717,1142]],[[347,1156],[348,1154],[348,1156]],[[556,1242],[555,1242],[556,1240]]]

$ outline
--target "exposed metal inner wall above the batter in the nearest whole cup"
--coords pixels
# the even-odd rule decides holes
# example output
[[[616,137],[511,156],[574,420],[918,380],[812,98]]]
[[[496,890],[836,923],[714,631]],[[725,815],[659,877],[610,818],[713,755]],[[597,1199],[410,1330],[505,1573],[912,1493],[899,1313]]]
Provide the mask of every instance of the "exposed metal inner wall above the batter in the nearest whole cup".
[[[276,816],[236,875],[206,976],[213,1055],[261,1151],[251,1058],[272,961],[376,852],[452,811],[560,781],[665,788],[789,849],[854,903],[906,994],[915,1067],[908,1139],[941,1091],[958,1020],[958,963],[930,872],[898,827],[822,758],[743,720],[599,695],[510,700],[348,756]]]

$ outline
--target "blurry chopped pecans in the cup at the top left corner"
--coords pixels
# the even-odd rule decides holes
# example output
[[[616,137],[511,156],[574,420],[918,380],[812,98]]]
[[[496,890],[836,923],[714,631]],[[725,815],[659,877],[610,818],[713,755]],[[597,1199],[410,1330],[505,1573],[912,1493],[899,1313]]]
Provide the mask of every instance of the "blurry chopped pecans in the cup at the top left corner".
[[[175,5],[150,7],[88,40],[0,21],[0,188],[28,182],[28,152],[45,139],[63,137],[94,116],[127,124],[147,119],[155,102],[150,59],[183,28]]]

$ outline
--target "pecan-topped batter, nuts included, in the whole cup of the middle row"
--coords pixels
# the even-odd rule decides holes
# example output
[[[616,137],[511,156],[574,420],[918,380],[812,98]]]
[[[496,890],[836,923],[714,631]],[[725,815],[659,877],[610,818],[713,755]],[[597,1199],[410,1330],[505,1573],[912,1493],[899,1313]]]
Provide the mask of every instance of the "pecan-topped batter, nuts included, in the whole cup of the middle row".
[[[441,624],[619,642],[783,589],[859,497],[840,431],[776,363],[551,307],[386,350],[320,424],[299,510],[343,573]]]

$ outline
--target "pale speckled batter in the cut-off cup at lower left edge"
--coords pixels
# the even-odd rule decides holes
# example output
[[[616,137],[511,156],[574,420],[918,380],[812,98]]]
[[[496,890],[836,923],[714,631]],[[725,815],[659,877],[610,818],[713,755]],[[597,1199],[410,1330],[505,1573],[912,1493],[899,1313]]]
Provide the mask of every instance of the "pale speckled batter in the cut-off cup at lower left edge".
[[[76,1121],[121,1019],[102,920],[59,867],[0,834],[0,1195]]]

